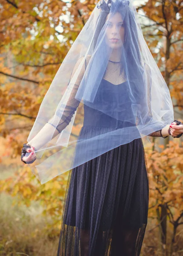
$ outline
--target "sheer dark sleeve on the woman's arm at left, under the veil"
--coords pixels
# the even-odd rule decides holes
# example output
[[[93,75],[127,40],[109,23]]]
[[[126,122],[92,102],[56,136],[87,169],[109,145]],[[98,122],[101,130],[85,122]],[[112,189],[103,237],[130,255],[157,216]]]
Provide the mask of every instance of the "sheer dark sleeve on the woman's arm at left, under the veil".
[[[74,69],[72,70],[72,73],[71,73],[71,78],[74,75],[74,73],[76,72],[76,70],[77,70],[78,66],[80,65],[81,61],[83,60],[83,58],[84,57],[79,58],[78,61],[76,62]],[[86,59],[88,59],[88,58],[86,58]],[[72,91],[70,93],[67,104],[60,105],[60,108],[56,111],[56,116],[54,116],[54,119],[57,117],[59,119],[57,126],[55,126],[51,123],[51,120],[53,117],[51,117],[51,119],[49,119],[49,121],[48,121],[48,123],[50,125],[54,126],[59,133],[61,133],[61,131],[63,131],[63,129],[66,128],[67,125],[69,125],[69,123],[71,122],[72,116],[74,115],[75,111],[77,110],[77,108],[80,104],[80,101],[75,99],[75,95],[77,93],[77,89],[80,85],[80,82],[81,82],[83,75],[85,73],[85,70],[86,70],[86,65],[88,62],[88,61],[86,61],[86,59],[84,61],[83,67],[81,68],[80,74],[77,77],[77,81],[75,82],[75,84],[72,88]],[[70,80],[71,80],[71,78],[70,78]],[[61,116],[61,119],[60,119],[60,116]]]

